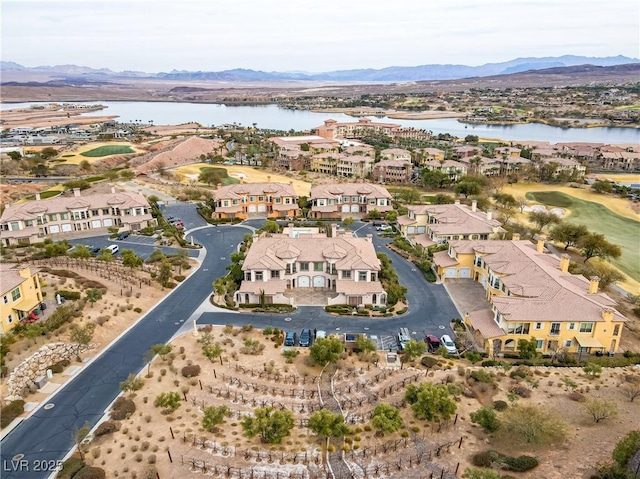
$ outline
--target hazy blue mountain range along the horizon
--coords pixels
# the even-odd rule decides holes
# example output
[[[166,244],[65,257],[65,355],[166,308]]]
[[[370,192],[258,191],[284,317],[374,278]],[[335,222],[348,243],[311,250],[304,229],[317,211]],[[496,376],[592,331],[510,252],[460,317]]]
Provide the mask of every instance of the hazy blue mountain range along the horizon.
[[[25,67],[14,62],[0,62],[2,82],[29,81],[33,76],[39,79],[74,80],[76,82],[108,82],[118,79],[159,79],[177,81],[233,81],[233,82],[277,82],[277,81],[323,81],[323,82],[414,82],[427,80],[456,80],[462,78],[488,77],[527,71],[594,65],[608,67],[630,63],[640,63],[640,59],[625,56],[584,57],[564,55],[561,57],[516,58],[501,63],[486,63],[480,66],[468,65],[419,65],[391,66],[381,69],[337,70],[322,73],[306,72],[264,72],[237,68],[223,71],[178,71],[145,73],[139,71],[114,72],[107,68],[89,68],[78,65],[55,65]]]

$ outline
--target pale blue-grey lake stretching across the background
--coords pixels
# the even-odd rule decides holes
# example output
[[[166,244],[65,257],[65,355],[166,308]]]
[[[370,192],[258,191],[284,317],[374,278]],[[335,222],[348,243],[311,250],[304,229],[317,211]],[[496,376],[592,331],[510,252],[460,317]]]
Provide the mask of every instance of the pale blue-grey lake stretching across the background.
[[[118,115],[123,122],[140,120],[143,124],[153,121],[155,125],[176,125],[196,122],[203,126],[233,124],[269,128],[274,130],[310,130],[329,118],[339,122],[357,121],[357,118],[341,113],[314,113],[306,110],[286,110],[277,105],[225,106],[210,103],[171,103],[139,101],[73,102],[82,104],[100,103],[105,110],[99,115]],[[2,103],[0,111],[10,108],[28,107],[35,103]],[[89,115],[91,116],[91,115]],[[468,125],[455,118],[433,120],[397,120],[373,118],[374,121],[396,123],[404,127],[430,130],[434,134],[449,133],[464,138],[477,135],[482,138],[500,138],[513,141],[548,141],[550,143],[588,142],[605,144],[640,143],[637,128],[559,128],[529,123],[523,125]]]

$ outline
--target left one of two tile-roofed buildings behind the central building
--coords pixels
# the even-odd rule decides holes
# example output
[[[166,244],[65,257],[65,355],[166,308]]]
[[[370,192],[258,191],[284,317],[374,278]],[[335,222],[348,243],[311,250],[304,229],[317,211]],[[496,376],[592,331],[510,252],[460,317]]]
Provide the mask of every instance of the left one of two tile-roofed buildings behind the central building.
[[[294,218],[300,214],[293,183],[240,183],[218,185],[214,219],[251,217]]]

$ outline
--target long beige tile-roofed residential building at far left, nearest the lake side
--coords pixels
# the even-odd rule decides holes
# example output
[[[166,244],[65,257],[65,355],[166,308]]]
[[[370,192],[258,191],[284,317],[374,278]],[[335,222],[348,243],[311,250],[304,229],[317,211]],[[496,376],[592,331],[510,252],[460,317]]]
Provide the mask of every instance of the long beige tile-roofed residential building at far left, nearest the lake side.
[[[36,199],[8,206],[0,217],[3,245],[30,244],[45,238],[66,238],[106,234],[107,228],[135,231],[155,225],[151,207],[139,193],[116,192]]]

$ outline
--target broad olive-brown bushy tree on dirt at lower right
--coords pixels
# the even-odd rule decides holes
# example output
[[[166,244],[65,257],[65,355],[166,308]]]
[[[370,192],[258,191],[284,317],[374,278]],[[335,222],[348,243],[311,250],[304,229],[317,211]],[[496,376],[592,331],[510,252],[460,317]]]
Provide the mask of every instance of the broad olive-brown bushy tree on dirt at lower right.
[[[502,413],[500,434],[506,440],[543,445],[564,440],[566,423],[550,410],[536,405],[515,404]]]

